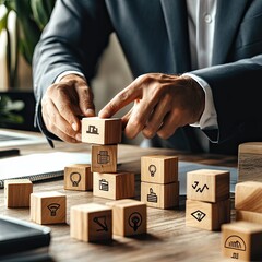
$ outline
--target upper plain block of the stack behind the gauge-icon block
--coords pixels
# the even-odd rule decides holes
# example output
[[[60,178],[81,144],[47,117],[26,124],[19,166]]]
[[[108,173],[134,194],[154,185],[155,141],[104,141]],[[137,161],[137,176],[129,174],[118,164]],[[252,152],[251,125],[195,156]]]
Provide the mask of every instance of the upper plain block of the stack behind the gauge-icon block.
[[[246,181],[235,187],[236,210],[262,213],[262,182]]]

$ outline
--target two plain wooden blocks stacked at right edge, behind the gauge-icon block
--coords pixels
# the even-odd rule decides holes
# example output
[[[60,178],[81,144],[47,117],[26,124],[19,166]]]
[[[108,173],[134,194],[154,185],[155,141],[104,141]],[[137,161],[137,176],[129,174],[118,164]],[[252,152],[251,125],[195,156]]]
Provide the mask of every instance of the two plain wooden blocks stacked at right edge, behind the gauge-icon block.
[[[262,224],[262,182],[239,182],[235,188],[236,221]]]

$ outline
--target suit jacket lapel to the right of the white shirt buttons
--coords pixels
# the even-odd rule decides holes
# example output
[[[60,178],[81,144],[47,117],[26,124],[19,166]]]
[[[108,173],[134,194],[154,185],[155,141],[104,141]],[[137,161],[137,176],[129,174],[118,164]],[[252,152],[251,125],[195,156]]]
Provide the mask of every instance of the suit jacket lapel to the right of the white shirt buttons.
[[[249,0],[217,0],[213,64],[226,61]]]

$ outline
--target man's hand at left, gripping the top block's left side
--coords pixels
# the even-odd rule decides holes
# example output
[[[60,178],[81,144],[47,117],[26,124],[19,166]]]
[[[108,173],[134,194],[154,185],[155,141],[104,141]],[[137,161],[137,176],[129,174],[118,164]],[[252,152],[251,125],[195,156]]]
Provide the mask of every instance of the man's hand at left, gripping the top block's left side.
[[[41,99],[41,115],[49,132],[69,143],[80,142],[79,117],[95,116],[93,93],[85,80],[69,74],[50,85]]]

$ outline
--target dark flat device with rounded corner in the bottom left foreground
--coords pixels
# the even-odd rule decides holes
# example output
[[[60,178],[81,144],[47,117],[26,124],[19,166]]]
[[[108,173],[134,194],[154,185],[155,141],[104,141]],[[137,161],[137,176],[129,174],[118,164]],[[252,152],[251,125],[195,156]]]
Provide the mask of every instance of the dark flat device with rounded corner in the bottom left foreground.
[[[17,258],[25,252],[46,252],[50,228],[0,215],[0,261]]]

